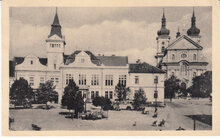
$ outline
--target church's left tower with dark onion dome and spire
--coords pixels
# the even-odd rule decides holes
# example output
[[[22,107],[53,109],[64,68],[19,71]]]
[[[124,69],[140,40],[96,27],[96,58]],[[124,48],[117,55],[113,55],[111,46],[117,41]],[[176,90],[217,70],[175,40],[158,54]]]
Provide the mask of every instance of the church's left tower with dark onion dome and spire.
[[[161,29],[157,31],[157,53],[156,53],[156,60],[157,60],[157,67],[160,67],[160,63],[162,62],[162,59],[165,55],[165,50],[167,46],[169,45],[170,41],[170,31],[166,28],[166,18],[165,13],[163,9],[163,17],[162,17],[162,23],[161,23]]]

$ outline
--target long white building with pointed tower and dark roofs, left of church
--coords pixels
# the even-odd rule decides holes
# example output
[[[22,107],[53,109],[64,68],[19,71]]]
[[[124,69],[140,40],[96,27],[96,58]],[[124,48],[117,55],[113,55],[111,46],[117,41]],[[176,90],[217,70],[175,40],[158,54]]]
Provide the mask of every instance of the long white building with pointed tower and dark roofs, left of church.
[[[82,96],[90,101],[96,96],[117,99],[115,86],[118,83],[130,88],[129,99],[133,99],[134,94],[142,88],[148,101],[155,101],[155,90],[158,91],[157,101],[164,101],[163,70],[147,63],[128,63],[127,56],[95,56],[90,51],[82,50],[65,55],[65,47],[65,37],[56,13],[46,39],[47,57],[40,58],[32,54],[15,57],[10,61],[10,68],[14,67],[10,69],[13,72],[10,79],[24,78],[34,89],[50,80],[56,86],[59,102],[70,80],[75,81]],[[155,78],[158,78],[156,86]]]

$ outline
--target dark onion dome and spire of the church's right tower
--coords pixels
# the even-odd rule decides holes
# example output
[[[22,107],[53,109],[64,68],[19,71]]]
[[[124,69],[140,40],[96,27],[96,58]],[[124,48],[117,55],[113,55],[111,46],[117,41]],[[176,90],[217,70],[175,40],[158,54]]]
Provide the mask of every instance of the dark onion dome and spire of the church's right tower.
[[[201,36],[199,35],[200,29],[196,27],[196,17],[193,8],[193,14],[191,18],[191,27],[187,30],[187,35],[197,43],[200,43]]]

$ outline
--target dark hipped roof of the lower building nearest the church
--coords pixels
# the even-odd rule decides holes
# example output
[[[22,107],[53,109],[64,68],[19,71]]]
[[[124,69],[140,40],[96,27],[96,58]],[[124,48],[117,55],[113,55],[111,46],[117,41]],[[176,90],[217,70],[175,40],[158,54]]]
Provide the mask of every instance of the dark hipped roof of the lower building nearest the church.
[[[165,73],[165,71],[144,62],[129,64],[129,73]]]

